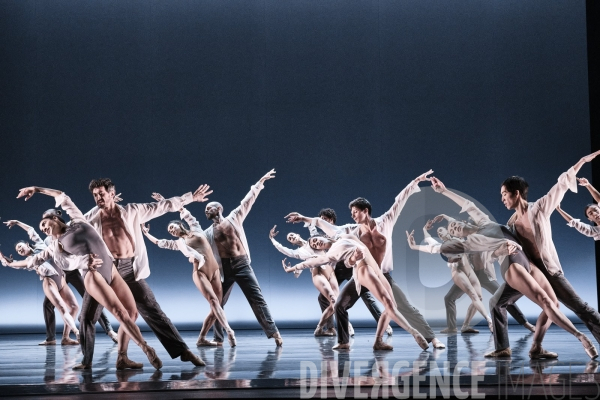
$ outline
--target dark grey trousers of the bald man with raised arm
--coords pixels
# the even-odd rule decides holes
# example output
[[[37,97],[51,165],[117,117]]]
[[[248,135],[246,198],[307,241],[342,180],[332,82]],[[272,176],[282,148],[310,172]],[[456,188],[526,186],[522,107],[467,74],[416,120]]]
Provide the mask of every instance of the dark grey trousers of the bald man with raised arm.
[[[273,321],[273,317],[271,317],[269,306],[267,306],[267,302],[262,295],[254,270],[248,262],[248,257],[222,258],[221,265],[223,266],[223,300],[221,305],[225,307],[233,289],[233,284],[237,283],[244,296],[246,296],[256,320],[267,337],[271,338],[278,331],[277,326]],[[214,325],[214,338],[217,342],[223,341],[223,327],[218,321]]]

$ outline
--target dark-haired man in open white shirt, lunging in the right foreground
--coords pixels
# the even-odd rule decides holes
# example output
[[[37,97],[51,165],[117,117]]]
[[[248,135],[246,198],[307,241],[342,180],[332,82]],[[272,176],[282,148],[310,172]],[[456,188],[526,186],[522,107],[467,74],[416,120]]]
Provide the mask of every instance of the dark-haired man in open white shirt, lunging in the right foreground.
[[[600,151],[596,151],[582,157],[567,172],[560,175],[558,183],[536,202],[527,202],[529,184],[518,176],[507,178],[502,183],[500,194],[502,203],[506,208],[515,210],[508,221],[508,225],[521,241],[523,251],[527,257],[546,276],[558,300],[573,311],[587,326],[596,340],[600,342],[600,314],[579,297],[565,277],[552,241],[552,227],[550,224],[550,216],[554,209],[560,205],[567,190],[577,192],[577,172],[583,164],[592,161],[599,154]],[[513,304],[520,296],[521,293],[505,284],[490,300],[494,328],[500,331],[497,334],[494,332],[497,339],[496,350],[486,354],[486,357],[510,356],[506,307]],[[537,329],[534,335],[529,356],[540,358],[544,354],[549,354],[552,358],[556,358],[558,357],[556,353],[546,352],[542,349],[542,340],[551,323],[545,314],[542,314],[542,318],[544,320],[538,321],[538,326],[541,328]]]

